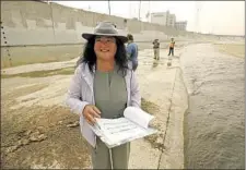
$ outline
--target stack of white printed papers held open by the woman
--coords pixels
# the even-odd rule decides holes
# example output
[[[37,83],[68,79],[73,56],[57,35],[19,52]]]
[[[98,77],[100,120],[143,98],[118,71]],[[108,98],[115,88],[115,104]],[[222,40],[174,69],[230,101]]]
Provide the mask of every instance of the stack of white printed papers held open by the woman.
[[[137,113],[136,117],[131,117]],[[144,116],[145,112],[139,110],[129,109],[127,116],[130,119],[138,119],[141,121],[141,126],[139,123],[131,121],[129,118],[118,118],[118,119],[96,119],[96,124],[92,127],[97,136],[109,147],[115,147],[127,142],[144,137],[147,135],[157,132],[154,129],[148,127],[149,121],[153,119],[153,116]],[[148,113],[145,113],[148,114]],[[139,119],[141,117],[143,119]]]

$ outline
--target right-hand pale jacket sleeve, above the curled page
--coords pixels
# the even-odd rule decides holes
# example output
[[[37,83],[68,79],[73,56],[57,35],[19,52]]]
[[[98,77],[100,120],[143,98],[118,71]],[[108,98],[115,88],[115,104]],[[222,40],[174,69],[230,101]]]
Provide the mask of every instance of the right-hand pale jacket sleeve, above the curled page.
[[[141,95],[136,73],[131,71],[131,101],[130,106],[141,108]]]

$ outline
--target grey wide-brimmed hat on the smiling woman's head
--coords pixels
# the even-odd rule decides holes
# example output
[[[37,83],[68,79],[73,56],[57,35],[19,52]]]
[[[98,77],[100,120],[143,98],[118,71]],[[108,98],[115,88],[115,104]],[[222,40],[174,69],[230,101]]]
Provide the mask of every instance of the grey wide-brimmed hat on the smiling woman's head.
[[[94,36],[114,36],[121,40],[124,44],[128,41],[127,36],[119,35],[116,25],[112,22],[99,22],[94,28],[94,33],[83,33],[82,37],[86,40]]]

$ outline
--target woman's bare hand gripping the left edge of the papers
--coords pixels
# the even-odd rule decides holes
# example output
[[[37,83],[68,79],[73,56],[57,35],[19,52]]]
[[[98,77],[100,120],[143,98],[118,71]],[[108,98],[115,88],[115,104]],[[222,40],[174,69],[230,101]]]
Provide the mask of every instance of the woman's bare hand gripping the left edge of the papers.
[[[94,105],[86,105],[82,114],[91,125],[96,122],[95,118],[101,118],[101,111]]]

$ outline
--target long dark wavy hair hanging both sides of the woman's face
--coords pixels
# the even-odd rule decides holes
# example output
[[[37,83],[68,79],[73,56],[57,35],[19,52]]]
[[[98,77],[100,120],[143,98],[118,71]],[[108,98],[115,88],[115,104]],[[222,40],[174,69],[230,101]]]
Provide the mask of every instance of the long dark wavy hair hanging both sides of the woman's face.
[[[82,62],[89,65],[90,71],[93,73],[93,66],[96,64],[96,54],[94,51],[95,37],[92,37],[84,45],[84,50],[80,59],[77,61],[77,66]],[[124,42],[116,38],[117,51],[115,54],[115,62],[118,65],[118,72],[126,76],[128,70],[127,51]]]

